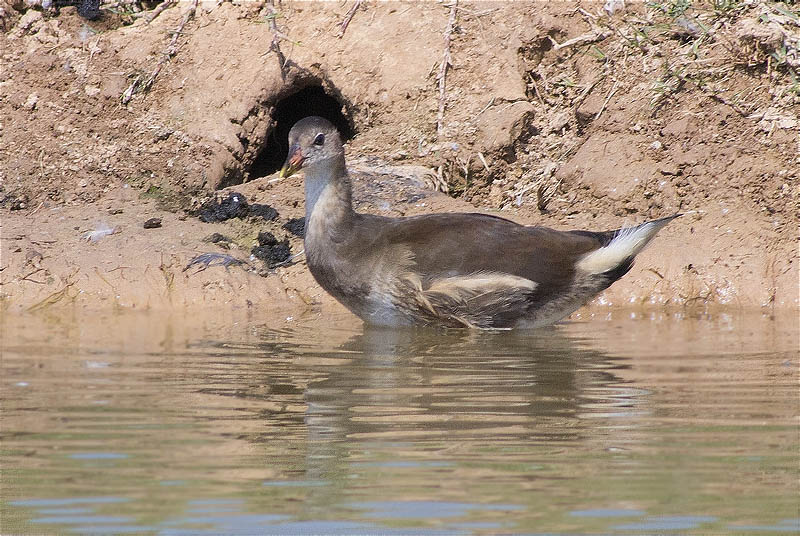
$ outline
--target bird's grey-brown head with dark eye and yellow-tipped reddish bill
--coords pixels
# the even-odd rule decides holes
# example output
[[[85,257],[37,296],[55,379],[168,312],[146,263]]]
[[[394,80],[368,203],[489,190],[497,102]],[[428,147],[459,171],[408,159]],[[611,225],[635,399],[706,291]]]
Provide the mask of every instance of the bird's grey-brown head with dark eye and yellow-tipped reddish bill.
[[[289,131],[289,155],[280,176],[290,177],[301,168],[325,165],[343,157],[342,138],[336,127],[322,117],[306,117]]]

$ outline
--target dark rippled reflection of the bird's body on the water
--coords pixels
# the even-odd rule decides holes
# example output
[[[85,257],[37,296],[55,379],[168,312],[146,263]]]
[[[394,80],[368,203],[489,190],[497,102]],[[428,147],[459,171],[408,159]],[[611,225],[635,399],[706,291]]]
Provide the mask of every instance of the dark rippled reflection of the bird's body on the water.
[[[619,364],[580,345],[558,328],[365,328],[336,348],[348,359],[304,391],[303,478],[338,483],[312,502],[390,474],[425,495],[422,483],[439,487],[452,471],[484,466],[480,478],[492,464],[592,441],[584,406],[626,395]]]

